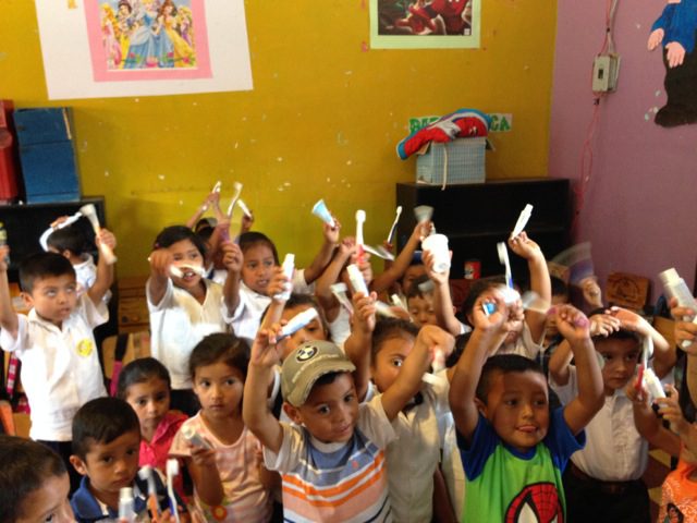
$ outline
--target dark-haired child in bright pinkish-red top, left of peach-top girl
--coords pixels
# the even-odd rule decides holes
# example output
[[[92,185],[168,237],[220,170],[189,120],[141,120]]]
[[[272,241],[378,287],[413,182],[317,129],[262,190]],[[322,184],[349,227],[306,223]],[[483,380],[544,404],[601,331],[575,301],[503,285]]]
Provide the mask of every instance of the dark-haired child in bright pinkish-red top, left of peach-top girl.
[[[154,357],[129,363],[119,375],[118,398],[125,400],[140,422],[138,465],[167,471],[172,440],[186,419],[178,411],[170,411],[170,373]],[[175,486],[181,490],[181,476]]]

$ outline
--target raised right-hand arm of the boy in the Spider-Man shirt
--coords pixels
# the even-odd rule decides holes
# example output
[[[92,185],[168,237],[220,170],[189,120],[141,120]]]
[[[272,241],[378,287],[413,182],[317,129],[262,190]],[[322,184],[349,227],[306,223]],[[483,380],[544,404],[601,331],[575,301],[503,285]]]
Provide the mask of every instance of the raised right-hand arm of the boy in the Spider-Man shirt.
[[[578,434],[602,409],[602,374],[590,341],[588,318],[571,305],[557,307],[555,314],[559,332],[574,353],[578,377],[578,396],[564,408],[564,421],[572,434]]]

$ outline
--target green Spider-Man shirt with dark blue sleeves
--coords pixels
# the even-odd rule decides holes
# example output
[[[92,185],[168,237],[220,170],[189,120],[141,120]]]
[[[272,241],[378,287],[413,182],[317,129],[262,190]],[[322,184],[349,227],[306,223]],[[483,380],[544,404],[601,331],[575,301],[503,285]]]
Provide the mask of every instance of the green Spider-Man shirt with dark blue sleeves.
[[[585,442],[583,431],[572,434],[561,408],[550,416],[545,439],[524,453],[501,441],[479,415],[472,445],[457,435],[466,475],[461,521],[563,523],[562,472]]]

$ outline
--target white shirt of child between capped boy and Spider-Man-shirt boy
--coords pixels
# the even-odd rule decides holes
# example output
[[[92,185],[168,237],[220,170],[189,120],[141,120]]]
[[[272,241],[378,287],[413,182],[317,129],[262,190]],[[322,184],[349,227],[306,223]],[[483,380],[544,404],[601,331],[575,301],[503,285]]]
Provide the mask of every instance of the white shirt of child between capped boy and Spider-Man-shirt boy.
[[[396,434],[387,448],[388,484],[394,521],[431,521],[433,513],[433,473],[440,462],[439,418],[450,411],[450,384],[445,370],[436,385],[424,384],[423,401],[402,410],[392,421]],[[372,385],[372,393],[377,388]]]

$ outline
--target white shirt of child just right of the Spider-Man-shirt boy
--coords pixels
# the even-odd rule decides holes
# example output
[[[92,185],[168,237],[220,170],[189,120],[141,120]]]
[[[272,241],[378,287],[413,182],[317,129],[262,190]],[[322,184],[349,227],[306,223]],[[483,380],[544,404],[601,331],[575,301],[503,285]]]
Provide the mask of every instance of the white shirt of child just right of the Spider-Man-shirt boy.
[[[578,396],[576,367],[570,365],[568,384],[550,386],[563,404]],[[634,425],[632,400],[624,390],[606,396],[602,409],[586,426],[586,447],[571,460],[584,473],[602,482],[628,482],[644,475],[648,464],[648,442]]]

